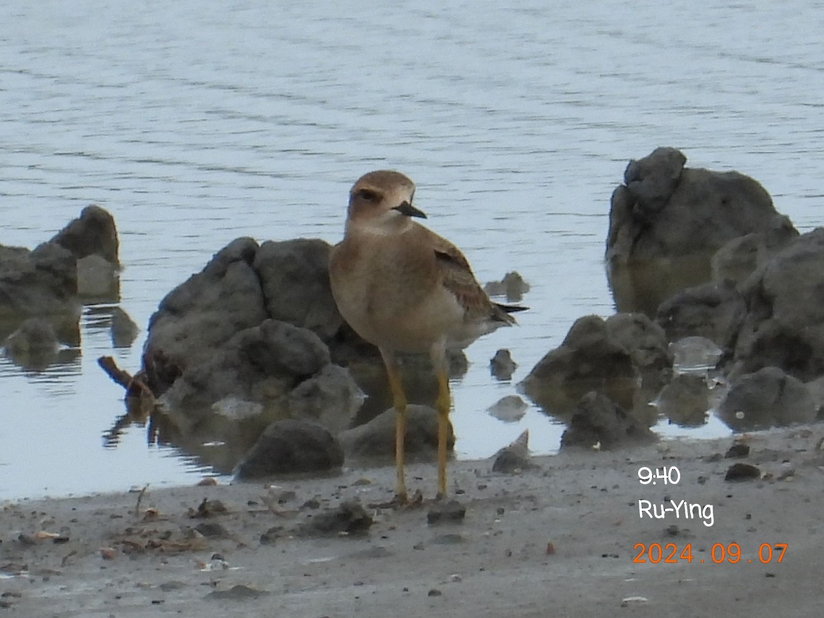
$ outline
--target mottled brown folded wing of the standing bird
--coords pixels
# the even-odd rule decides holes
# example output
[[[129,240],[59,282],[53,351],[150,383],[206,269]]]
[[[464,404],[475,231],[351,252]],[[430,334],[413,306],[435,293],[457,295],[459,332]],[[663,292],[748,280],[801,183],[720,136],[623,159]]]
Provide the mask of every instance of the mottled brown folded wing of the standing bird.
[[[455,295],[470,320],[492,319],[512,324],[515,320],[501,307],[489,300],[472,274],[471,266],[461,250],[446,238],[429,232],[429,241],[435,252],[435,261],[444,288]]]

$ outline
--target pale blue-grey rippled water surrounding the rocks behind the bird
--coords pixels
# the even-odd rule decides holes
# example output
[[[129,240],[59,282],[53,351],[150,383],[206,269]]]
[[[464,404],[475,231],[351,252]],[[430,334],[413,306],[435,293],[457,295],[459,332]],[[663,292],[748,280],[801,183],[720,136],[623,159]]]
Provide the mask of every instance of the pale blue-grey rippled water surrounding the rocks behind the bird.
[[[78,2],[0,7],[0,242],[35,246],[87,204],[114,214],[121,306],[160,299],[236,236],[335,242],[349,185],[380,167],[418,184],[428,224],[481,281],[529,283],[518,328],[471,346],[453,385],[461,457],[531,430],[485,413],[588,313],[614,311],[602,263],[609,198],[658,146],[761,181],[806,231],[822,204],[824,3]],[[672,5],[672,6],[671,6]],[[143,333],[145,335],[145,333]],[[0,360],[0,498],[191,483],[203,470],[131,425],[82,353],[44,372]],[[489,377],[494,351],[519,363]],[[662,425],[664,435],[723,435]]]

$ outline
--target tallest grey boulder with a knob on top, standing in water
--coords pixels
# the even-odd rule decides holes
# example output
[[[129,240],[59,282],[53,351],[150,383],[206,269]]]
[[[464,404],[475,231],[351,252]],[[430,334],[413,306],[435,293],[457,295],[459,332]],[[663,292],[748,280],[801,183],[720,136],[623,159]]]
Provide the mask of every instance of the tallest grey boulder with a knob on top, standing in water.
[[[672,293],[709,281],[709,260],[724,243],[776,226],[770,194],[756,180],[685,162],[658,148],[630,162],[612,194],[606,259],[619,311],[653,315]]]

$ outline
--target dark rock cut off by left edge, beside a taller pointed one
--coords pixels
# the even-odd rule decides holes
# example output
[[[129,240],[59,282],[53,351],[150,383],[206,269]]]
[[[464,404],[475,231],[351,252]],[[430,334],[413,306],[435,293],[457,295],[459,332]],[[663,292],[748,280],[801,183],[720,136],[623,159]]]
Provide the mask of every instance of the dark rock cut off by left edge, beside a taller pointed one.
[[[0,320],[59,316],[77,324],[77,260],[54,243],[0,246]]]

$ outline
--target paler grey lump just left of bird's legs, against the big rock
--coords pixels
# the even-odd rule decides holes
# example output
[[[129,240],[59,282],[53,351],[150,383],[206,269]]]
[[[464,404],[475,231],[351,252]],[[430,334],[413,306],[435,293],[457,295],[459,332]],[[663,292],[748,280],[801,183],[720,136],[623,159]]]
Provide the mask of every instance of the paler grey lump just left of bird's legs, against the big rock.
[[[332,433],[340,433],[352,423],[365,396],[348,369],[327,364],[288,395],[293,418],[312,420]]]

